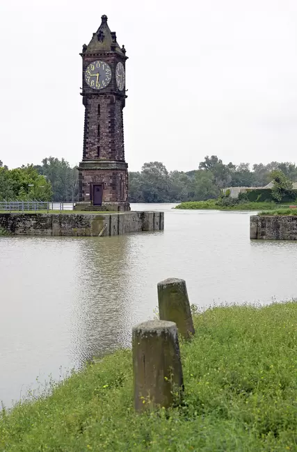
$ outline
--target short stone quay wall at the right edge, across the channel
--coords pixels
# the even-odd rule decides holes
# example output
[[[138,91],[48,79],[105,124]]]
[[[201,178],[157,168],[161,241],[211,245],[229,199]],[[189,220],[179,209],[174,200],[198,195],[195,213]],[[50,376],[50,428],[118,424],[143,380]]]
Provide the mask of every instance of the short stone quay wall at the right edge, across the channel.
[[[297,216],[251,216],[250,239],[297,240]]]

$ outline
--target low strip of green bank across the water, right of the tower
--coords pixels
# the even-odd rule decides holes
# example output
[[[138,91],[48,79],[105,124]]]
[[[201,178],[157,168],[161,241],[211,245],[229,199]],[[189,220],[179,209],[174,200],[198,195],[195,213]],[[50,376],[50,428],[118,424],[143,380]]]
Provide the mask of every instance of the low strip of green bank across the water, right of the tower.
[[[232,205],[231,198],[230,205],[223,204],[221,200],[207,200],[207,201],[191,201],[181,202],[177,204],[175,209],[209,209],[209,210],[275,210],[280,208],[275,202],[239,202],[239,204]],[[294,203],[291,203],[294,204]],[[284,207],[289,207],[290,204],[282,204]]]

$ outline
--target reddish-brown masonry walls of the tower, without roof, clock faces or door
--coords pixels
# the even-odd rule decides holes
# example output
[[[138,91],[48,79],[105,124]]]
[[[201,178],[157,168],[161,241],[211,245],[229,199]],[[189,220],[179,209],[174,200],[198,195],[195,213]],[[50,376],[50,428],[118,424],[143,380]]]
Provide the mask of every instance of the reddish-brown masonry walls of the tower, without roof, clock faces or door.
[[[111,81],[104,90],[95,91],[85,79],[89,63],[104,60],[111,67]],[[83,54],[83,105],[85,106],[83,161],[79,166],[79,200],[90,201],[90,184],[103,184],[102,202],[127,202],[128,172],[125,164],[122,110],[125,91],[120,92],[115,81],[118,61],[125,65],[126,57],[115,52]],[[102,168],[102,162],[104,168]],[[88,162],[91,168],[88,168]],[[126,168],[126,169],[125,169]]]

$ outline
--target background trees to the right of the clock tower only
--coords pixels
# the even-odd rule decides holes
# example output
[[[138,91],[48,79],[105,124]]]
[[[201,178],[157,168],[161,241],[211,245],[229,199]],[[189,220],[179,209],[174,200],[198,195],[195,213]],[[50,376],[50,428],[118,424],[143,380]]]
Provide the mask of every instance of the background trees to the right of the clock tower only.
[[[197,170],[188,172],[166,170],[163,163],[145,163],[140,172],[129,173],[130,202],[186,202],[215,199],[221,188],[230,186],[266,186],[278,177],[297,181],[297,166],[289,162],[223,163],[218,156],[206,156]]]

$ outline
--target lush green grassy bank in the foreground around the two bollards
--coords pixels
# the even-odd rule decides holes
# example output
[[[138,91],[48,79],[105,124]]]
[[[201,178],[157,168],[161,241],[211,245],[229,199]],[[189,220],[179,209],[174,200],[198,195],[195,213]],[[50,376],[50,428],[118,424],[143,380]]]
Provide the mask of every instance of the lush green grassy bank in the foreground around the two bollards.
[[[185,394],[135,414],[120,350],[0,415],[0,450],[296,451],[297,303],[216,307],[181,344]]]

